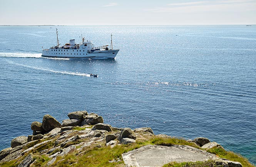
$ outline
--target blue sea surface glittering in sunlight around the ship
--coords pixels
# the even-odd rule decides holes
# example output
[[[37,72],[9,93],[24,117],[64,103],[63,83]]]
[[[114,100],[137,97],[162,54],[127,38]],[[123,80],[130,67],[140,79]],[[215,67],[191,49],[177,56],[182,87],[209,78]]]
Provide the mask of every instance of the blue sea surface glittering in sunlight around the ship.
[[[42,58],[81,33],[115,60]],[[87,74],[98,74],[98,78]],[[256,25],[0,26],[0,150],[45,114],[207,137],[256,164]]]

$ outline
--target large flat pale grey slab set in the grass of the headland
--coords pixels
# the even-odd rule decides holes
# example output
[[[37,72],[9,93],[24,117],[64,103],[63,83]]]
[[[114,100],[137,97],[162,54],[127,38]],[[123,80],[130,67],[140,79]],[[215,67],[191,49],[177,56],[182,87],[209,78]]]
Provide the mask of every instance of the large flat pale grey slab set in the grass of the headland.
[[[128,167],[162,167],[169,162],[196,162],[216,158],[216,155],[191,146],[147,145],[122,154]]]

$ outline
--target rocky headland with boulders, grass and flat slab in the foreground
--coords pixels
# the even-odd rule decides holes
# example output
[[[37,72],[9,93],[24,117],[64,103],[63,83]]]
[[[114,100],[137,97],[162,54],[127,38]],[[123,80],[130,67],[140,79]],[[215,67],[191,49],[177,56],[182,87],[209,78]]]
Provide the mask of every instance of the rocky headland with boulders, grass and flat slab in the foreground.
[[[184,140],[154,135],[150,127],[112,127],[87,111],[60,123],[45,115],[32,135],[19,136],[0,151],[1,167],[254,167],[241,155],[204,137]]]

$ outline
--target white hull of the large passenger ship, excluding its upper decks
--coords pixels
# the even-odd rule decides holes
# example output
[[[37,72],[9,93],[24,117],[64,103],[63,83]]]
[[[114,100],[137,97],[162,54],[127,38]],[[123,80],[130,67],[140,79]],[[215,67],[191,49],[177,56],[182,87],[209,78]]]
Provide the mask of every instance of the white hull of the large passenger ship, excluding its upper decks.
[[[114,59],[119,50],[95,50],[92,53],[79,49],[44,49],[42,57],[74,59]]]

